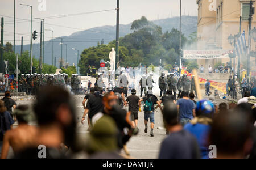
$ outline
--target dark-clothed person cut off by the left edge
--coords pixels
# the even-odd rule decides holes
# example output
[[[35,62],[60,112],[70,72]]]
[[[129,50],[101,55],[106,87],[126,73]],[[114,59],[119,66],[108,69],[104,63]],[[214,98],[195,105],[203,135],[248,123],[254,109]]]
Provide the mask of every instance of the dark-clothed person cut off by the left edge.
[[[12,128],[14,124],[11,114],[6,111],[5,104],[0,100],[0,155],[2,152],[3,138],[6,131]]]

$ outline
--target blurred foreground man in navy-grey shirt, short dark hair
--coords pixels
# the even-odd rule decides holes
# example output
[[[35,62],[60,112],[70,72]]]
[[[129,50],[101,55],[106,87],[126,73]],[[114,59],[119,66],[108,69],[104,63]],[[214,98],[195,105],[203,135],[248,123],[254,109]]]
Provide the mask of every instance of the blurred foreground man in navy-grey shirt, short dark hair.
[[[170,135],[160,147],[159,159],[197,159],[200,158],[199,146],[195,137],[178,122],[178,110],[169,102],[163,109],[163,122]]]

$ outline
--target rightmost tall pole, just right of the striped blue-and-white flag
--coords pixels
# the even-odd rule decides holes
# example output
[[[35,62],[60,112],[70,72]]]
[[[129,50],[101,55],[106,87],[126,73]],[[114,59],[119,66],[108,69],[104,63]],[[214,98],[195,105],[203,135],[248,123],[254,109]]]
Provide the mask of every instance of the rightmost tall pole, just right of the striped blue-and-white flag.
[[[253,1],[250,1],[250,15],[249,15],[249,35],[248,35],[248,48],[249,52],[251,52],[251,20],[253,19],[254,14],[254,8],[253,8]],[[250,54],[247,54],[247,77],[250,76]],[[249,83],[249,79],[247,80],[247,83]]]

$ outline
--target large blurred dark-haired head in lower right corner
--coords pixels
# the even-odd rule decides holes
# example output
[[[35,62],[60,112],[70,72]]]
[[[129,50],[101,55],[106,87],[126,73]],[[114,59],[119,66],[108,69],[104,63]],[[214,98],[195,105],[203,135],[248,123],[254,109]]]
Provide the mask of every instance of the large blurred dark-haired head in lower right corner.
[[[218,153],[224,155],[242,153],[252,132],[253,125],[243,112],[218,114],[210,130],[209,145],[216,145]]]

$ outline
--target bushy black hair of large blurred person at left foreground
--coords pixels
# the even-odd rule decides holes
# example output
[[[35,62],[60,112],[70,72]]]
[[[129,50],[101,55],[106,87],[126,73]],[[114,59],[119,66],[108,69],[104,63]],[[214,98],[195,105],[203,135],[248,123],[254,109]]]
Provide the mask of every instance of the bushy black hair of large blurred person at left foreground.
[[[44,88],[39,91],[36,98],[34,112],[39,125],[47,125],[57,121],[57,109],[63,104],[67,105],[71,112],[75,113],[75,108],[71,104],[71,96],[63,88],[57,86]]]

